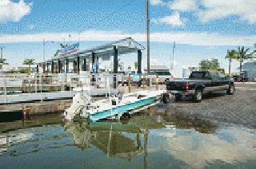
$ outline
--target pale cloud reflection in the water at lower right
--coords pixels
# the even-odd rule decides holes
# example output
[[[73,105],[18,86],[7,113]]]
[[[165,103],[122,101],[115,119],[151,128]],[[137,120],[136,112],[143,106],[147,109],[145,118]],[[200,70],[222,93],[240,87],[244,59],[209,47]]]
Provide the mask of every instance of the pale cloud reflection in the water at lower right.
[[[182,129],[172,132],[174,134],[170,135],[170,130],[163,130],[154,135],[165,140],[170,155],[190,167],[201,168],[218,161],[232,164],[256,159],[256,133],[250,129],[222,128],[214,135]],[[162,151],[162,147],[154,151]]]

